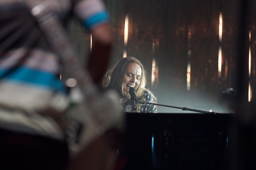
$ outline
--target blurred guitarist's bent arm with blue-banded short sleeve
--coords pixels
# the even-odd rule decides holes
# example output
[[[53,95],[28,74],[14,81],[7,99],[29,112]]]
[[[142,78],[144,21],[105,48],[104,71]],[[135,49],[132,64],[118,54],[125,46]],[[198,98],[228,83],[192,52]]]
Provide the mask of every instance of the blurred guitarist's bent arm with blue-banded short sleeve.
[[[101,0],[77,1],[74,12],[92,34],[91,54],[85,67],[99,85],[110,60],[113,41],[108,12]]]

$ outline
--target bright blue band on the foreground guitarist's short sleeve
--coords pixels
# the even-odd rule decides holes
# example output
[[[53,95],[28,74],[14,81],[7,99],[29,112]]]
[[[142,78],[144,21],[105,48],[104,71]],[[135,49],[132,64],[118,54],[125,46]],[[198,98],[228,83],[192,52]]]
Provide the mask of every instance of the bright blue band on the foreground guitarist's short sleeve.
[[[91,16],[88,20],[84,20],[83,24],[87,28],[92,28],[100,23],[109,21],[109,15],[106,11]]]

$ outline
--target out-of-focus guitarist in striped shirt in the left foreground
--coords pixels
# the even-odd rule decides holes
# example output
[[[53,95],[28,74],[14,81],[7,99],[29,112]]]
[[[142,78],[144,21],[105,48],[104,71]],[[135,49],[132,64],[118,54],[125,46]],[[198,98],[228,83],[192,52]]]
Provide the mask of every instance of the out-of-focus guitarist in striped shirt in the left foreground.
[[[85,103],[90,106],[91,121],[95,128],[105,131],[94,135],[72,159],[64,131],[68,90],[59,78],[61,66],[68,62],[52,46],[45,31],[55,24],[41,27],[41,22],[53,16],[48,11],[63,28],[70,16],[77,17],[93,38],[88,67],[83,70],[86,81],[80,86]],[[41,13],[45,13],[43,17]],[[0,25],[1,169],[112,169],[116,158],[113,129],[121,124],[122,116],[112,114],[115,97],[109,109],[104,104],[109,97],[97,86],[110,59],[112,44],[109,17],[102,1],[0,0]],[[59,37],[52,37],[53,41],[63,43],[56,38]],[[79,69],[73,70],[76,72],[72,74],[79,77]],[[102,107],[97,108],[98,105]],[[106,114],[108,119],[99,121]]]

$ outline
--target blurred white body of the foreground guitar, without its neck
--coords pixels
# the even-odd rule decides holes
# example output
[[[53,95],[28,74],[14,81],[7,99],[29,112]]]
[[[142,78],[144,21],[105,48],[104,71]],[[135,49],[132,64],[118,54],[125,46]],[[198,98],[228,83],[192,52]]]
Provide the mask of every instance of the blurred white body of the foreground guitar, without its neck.
[[[71,100],[75,103],[67,112],[67,141],[71,156],[75,156],[96,137],[104,135],[110,128],[124,126],[124,114],[119,112],[118,97],[113,90],[103,93],[102,101],[97,103],[105,111],[92,114],[89,106],[84,103],[83,93],[79,88],[72,88]],[[106,107],[107,105],[107,107]],[[100,109],[100,108],[99,108]],[[101,119],[101,123],[99,123]]]

